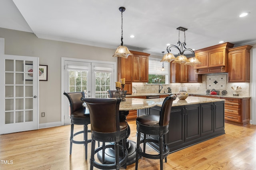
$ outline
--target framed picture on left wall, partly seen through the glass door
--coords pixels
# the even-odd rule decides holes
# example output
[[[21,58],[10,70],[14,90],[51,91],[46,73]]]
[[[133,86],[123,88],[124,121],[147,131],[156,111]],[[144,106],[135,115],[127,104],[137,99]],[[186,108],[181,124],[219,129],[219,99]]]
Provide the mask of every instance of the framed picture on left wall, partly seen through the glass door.
[[[33,72],[33,64],[25,64],[26,72]],[[48,65],[39,65],[39,80],[48,81]],[[33,73],[26,73],[25,80],[33,80]]]

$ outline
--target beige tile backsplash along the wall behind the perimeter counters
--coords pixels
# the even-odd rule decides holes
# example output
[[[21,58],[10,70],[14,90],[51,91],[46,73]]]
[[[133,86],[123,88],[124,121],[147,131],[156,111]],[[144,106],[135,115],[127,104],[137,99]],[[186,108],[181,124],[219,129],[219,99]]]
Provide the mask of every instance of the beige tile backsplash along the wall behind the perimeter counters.
[[[209,83],[207,83],[206,80],[206,76],[215,76],[218,78],[215,78],[218,84],[218,86],[221,87],[215,87],[214,88],[207,88],[207,85]],[[226,77],[226,80],[224,80],[224,78]],[[223,79],[221,79],[223,78]],[[215,81],[215,80],[214,80]],[[224,81],[224,82],[222,82]],[[226,82],[226,83],[225,83]],[[215,84],[215,83],[213,83]],[[159,84],[146,84],[146,83],[132,83],[132,86],[134,86],[134,88],[136,88],[137,93],[158,93],[158,89],[159,89]],[[188,93],[195,93],[195,94],[206,94],[206,90],[220,90],[220,95],[222,90],[226,90],[228,93],[227,95],[232,96],[233,95],[233,90],[231,88],[231,86],[241,86],[242,90],[239,92],[239,96],[250,96],[249,95],[249,83],[228,83],[227,82],[227,74],[223,73],[223,74],[218,74],[218,76],[216,75],[202,75],[202,83],[170,83],[170,84],[162,84],[163,89],[161,90],[161,93],[167,92],[167,88],[170,87],[172,89],[172,93],[178,93],[180,90],[180,87],[185,87],[188,90]]]

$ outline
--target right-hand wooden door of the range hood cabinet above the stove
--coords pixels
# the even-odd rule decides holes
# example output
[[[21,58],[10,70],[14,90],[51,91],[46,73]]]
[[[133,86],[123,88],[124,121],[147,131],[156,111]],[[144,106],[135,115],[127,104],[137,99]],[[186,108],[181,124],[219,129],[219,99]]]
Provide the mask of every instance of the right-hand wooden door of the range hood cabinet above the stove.
[[[226,49],[209,51],[209,67],[225,66],[227,54]]]

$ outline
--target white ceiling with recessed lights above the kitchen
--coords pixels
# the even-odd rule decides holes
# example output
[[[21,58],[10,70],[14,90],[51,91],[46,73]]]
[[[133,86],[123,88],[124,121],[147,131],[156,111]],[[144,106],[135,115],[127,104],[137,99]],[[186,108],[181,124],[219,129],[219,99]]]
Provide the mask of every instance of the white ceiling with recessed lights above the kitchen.
[[[120,6],[126,8],[123,41],[130,50],[162,56],[167,43],[177,45],[180,26],[188,29],[186,47],[191,49],[221,40],[235,46],[256,43],[255,0],[1,0],[0,27],[116,49],[121,43]],[[239,18],[242,12],[250,15]]]

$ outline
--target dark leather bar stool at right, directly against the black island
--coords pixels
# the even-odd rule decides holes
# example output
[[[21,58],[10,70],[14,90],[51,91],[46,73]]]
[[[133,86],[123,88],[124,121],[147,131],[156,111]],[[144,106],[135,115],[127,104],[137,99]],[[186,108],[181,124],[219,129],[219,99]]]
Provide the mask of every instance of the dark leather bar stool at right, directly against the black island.
[[[140,156],[150,159],[160,159],[160,170],[163,169],[163,159],[167,162],[167,156],[169,154],[169,147],[166,145],[166,136],[169,131],[170,112],[172,108],[172,102],[176,99],[176,96],[171,94],[164,99],[160,115],[140,115],[136,119],[137,125],[137,146],[136,146],[136,165],[135,169],[138,169],[138,160]],[[140,139],[141,133],[144,134],[144,139]],[[159,135],[158,140],[147,139],[147,135]],[[159,146],[159,154],[146,153],[146,143],[156,143]],[[143,151],[140,150],[140,144],[143,143]]]

